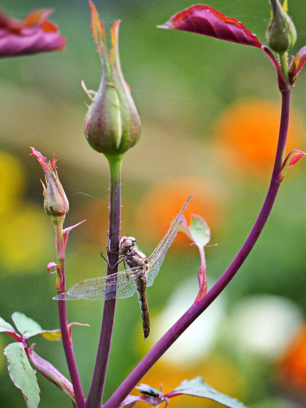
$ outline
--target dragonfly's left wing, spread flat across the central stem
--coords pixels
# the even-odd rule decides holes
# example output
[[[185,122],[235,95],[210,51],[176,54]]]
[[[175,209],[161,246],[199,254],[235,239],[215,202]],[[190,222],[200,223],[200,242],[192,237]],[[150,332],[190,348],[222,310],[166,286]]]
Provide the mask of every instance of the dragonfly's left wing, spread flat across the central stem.
[[[56,300],[109,300],[133,296],[135,281],[143,273],[143,268],[135,267],[112,273],[108,276],[86,279],[73,285],[67,292],[54,296]]]

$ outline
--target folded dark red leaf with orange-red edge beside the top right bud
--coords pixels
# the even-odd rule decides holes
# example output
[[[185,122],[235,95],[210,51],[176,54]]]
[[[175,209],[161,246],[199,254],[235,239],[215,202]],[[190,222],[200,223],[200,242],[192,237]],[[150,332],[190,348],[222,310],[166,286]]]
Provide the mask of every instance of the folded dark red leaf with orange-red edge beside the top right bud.
[[[164,25],[158,27],[189,31],[258,48],[262,46],[257,37],[236,18],[227,17],[212,7],[202,4],[191,6],[175,14]]]

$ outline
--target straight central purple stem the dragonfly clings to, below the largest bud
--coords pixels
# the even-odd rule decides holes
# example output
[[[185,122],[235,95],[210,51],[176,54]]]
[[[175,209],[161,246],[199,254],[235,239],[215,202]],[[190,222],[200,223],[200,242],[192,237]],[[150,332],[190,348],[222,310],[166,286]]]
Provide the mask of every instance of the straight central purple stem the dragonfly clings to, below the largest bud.
[[[120,239],[121,214],[121,163],[122,156],[108,157],[110,164],[110,215],[109,251],[107,275],[118,271],[118,244]],[[110,265],[115,265],[113,268]],[[100,408],[102,405],[105,379],[113,334],[116,299],[105,300],[99,343],[93,369],[86,408]]]

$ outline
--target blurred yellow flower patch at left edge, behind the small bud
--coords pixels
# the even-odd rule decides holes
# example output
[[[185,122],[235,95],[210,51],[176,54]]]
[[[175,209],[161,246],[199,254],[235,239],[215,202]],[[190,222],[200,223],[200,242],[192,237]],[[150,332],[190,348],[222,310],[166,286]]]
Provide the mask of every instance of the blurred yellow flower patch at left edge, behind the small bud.
[[[23,197],[24,170],[11,154],[0,151],[0,259],[3,270],[37,270],[52,248],[52,225],[43,207]]]

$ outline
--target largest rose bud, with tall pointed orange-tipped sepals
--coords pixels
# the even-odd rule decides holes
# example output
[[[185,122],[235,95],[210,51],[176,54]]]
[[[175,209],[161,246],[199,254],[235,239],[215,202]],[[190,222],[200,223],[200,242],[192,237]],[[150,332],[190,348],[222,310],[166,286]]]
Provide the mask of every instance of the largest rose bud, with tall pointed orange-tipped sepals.
[[[108,53],[104,23],[100,22],[94,5],[91,2],[89,4],[92,33],[102,61],[103,75],[96,93],[86,90],[92,104],[85,119],[85,136],[96,151],[119,155],[137,143],[140,119],[130,88],[121,72],[118,52],[120,21],[113,23],[112,48]]]

